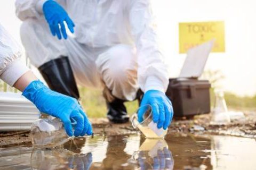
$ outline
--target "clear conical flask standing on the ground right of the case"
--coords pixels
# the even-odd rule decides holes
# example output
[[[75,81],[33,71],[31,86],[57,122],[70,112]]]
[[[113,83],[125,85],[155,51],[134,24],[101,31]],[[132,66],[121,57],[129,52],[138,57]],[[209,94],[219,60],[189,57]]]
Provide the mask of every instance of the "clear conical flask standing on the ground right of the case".
[[[230,123],[227,104],[224,98],[223,91],[215,91],[215,103],[211,115],[212,125],[222,125]]]

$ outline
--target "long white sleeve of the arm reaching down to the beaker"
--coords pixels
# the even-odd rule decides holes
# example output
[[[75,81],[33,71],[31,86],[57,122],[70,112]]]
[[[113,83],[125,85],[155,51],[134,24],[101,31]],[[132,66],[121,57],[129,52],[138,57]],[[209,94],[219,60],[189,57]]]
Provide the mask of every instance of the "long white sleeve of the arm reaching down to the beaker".
[[[132,0],[129,17],[137,48],[139,86],[144,92],[165,92],[169,83],[167,66],[158,48],[149,0]]]

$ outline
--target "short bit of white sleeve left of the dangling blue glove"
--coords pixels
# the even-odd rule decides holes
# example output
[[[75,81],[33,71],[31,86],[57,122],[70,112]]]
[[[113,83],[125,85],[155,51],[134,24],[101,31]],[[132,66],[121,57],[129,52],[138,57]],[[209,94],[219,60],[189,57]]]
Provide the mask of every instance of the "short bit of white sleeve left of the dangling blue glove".
[[[43,14],[43,4],[47,0],[16,0],[16,15],[21,21],[28,18],[39,19]]]

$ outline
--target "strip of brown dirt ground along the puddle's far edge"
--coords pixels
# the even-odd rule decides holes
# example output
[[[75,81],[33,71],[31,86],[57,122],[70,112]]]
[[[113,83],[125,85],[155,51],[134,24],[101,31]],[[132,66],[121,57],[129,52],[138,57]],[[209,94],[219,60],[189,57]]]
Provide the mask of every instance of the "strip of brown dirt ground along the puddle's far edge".
[[[198,115],[193,118],[174,119],[167,135],[178,133],[193,134],[222,134],[238,137],[256,138],[256,112],[244,112],[245,118],[231,121],[229,125],[210,125],[210,115]],[[138,133],[132,128],[131,123],[112,124],[106,118],[91,119],[94,134],[123,135]],[[30,141],[29,131],[2,132],[0,133],[0,147],[6,145],[20,145]]]

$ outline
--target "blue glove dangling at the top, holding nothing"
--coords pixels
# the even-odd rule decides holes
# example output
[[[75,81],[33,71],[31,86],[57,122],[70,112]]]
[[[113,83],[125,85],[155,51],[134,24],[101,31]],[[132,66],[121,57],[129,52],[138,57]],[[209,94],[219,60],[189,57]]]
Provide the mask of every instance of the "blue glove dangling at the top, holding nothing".
[[[64,21],[66,21],[70,32],[74,33],[75,24],[69,18],[68,13],[57,2],[52,0],[46,1],[43,4],[43,13],[53,36],[57,35],[61,39],[61,30],[63,38],[67,39]]]

